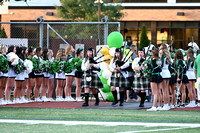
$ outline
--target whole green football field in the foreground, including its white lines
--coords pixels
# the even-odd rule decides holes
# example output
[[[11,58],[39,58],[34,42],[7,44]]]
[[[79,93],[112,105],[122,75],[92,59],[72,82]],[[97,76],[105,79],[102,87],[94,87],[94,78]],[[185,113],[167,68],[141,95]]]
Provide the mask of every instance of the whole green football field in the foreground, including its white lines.
[[[199,133],[199,111],[0,107],[1,132]]]

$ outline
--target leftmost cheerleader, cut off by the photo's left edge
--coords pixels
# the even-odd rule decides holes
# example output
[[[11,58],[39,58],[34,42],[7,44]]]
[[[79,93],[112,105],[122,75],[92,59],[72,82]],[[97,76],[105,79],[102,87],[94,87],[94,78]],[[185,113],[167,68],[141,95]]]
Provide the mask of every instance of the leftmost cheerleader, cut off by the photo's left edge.
[[[1,45],[0,46],[0,56],[6,57],[6,51],[7,51],[6,47]],[[7,104],[6,101],[4,101],[4,98],[3,98],[7,78],[8,78],[8,73],[2,72],[2,76],[1,76],[1,79],[0,79],[0,105]]]

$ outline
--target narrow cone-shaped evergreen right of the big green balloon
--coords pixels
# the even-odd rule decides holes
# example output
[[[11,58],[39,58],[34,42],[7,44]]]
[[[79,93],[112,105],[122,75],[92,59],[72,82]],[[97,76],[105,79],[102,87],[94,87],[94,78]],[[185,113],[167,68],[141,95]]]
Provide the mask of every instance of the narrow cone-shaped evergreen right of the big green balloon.
[[[147,30],[146,30],[145,24],[143,24],[139,48],[147,47],[149,46],[149,44],[150,44],[150,40],[148,39],[148,36],[147,36]]]

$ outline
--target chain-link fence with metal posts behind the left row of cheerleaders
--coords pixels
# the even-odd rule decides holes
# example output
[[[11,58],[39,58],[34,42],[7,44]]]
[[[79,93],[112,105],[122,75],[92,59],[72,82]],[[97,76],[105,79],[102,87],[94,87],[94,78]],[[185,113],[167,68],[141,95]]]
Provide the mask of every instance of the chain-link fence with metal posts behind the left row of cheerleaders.
[[[74,48],[80,44],[87,49],[96,49],[97,45],[107,43],[107,36],[113,31],[120,31],[119,22],[0,22],[7,38],[27,39],[27,46],[48,47],[57,52],[69,43]],[[5,38],[0,36],[1,38]],[[2,43],[0,39],[0,43]]]

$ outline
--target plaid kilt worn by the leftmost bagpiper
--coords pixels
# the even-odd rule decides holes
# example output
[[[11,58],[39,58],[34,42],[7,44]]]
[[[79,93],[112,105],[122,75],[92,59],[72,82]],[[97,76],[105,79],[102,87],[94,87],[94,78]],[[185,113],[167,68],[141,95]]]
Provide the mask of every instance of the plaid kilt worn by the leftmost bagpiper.
[[[92,80],[89,82],[86,81],[86,75],[88,75],[88,73],[84,72],[81,80],[82,88],[102,89],[104,87],[103,83],[101,82],[100,78],[96,73],[90,73]]]

